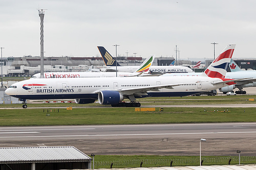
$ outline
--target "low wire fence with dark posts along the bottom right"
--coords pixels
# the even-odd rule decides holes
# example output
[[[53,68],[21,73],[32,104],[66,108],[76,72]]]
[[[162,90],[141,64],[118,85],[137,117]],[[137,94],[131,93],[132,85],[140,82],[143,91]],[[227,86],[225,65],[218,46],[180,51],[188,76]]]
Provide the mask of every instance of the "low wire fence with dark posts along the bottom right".
[[[226,165],[239,164],[238,156],[228,157],[202,157],[202,165]],[[256,164],[255,156],[242,156],[241,164]],[[117,167],[151,167],[151,166],[198,166],[198,158],[174,158],[174,159],[137,159],[122,161],[95,161],[95,168],[117,168]]]

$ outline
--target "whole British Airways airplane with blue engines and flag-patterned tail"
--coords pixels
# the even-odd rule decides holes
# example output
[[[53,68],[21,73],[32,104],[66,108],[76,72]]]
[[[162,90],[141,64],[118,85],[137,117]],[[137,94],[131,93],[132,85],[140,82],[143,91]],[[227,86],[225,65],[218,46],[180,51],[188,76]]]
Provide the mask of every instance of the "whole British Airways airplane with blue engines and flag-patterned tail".
[[[29,79],[14,83],[5,92],[25,103],[26,100],[75,99],[79,104],[99,100],[101,105],[140,107],[136,98],[186,96],[235,84],[236,80],[224,78],[234,46],[228,45],[197,77]],[[124,103],[123,99],[131,102]]]

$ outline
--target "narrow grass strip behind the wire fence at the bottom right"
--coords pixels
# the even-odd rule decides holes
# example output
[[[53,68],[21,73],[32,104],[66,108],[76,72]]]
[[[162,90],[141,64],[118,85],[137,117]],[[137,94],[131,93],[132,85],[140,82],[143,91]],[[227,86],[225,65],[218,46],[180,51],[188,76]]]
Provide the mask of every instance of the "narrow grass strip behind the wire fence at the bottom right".
[[[239,164],[238,156],[202,156],[203,165]],[[199,166],[199,156],[158,156],[158,155],[96,155],[95,168],[124,168],[124,167],[152,167],[152,166]],[[142,162],[142,163],[141,163]],[[256,157],[241,156],[241,164],[255,164]],[[93,166],[93,165],[92,165]]]

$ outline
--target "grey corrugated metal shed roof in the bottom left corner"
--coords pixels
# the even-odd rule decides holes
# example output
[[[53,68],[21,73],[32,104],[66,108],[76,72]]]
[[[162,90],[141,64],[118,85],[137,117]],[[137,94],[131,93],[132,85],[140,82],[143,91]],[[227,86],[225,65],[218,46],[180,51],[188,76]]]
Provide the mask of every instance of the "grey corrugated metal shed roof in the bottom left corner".
[[[91,158],[75,147],[0,148],[0,163],[89,161]]]

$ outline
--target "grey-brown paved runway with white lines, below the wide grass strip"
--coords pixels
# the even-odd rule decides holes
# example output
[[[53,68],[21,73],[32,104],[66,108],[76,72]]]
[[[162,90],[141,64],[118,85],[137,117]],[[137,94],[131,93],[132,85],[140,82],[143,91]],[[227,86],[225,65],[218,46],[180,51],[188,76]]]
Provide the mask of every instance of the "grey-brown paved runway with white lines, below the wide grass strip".
[[[256,156],[256,123],[1,127],[2,147],[73,145],[90,155]]]

